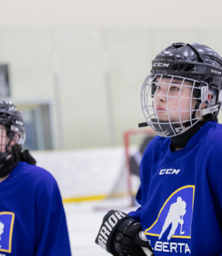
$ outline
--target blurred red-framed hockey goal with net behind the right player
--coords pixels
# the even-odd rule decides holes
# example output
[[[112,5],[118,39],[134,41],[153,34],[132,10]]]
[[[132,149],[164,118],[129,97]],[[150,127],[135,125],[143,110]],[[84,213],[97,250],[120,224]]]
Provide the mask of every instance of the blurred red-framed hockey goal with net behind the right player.
[[[135,206],[135,195],[139,189],[139,164],[143,151],[155,133],[149,127],[127,129],[123,133],[123,158],[122,167],[118,177],[106,199],[102,201],[99,210],[112,207],[133,207]],[[118,203],[119,202],[119,203]]]

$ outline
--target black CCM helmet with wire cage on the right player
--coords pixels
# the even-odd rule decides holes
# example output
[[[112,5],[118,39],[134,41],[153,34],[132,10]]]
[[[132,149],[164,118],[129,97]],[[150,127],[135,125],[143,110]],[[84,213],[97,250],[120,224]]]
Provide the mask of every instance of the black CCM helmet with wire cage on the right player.
[[[167,121],[159,120],[155,110],[155,92],[161,83],[168,81],[168,86],[177,84],[180,92],[185,87],[192,89],[190,97],[189,119],[170,120],[170,111]],[[176,82],[175,82],[176,81]],[[188,84],[190,86],[188,86]],[[147,76],[141,90],[141,106],[147,125],[155,133],[163,137],[180,135],[193,127],[198,121],[209,115],[217,120],[222,101],[222,58],[213,49],[204,44],[176,42],[161,51],[152,61],[151,74]],[[210,97],[209,97],[210,95]],[[165,98],[170,98],[169,89]],[[180,93],[178,98],[180,97]],[[191,101],[196,105],[191,109]],[[180,100],[178,101],[180,111]],[[200,108],[205,102],[205,108]],[[198,113],[198,115],[196,115]],[[143,124],[139,126],[144,126]]]

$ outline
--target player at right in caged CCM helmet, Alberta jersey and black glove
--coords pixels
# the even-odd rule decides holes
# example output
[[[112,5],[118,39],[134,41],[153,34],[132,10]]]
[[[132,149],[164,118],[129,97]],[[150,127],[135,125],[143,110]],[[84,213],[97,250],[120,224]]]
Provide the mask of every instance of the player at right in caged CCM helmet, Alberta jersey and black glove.
[[[155,57],[141,90],[157,136],[141,161],[140,207],[108,212],[98,245],[116,256],[222,255],[221,101],[213,49],[178,42]]]

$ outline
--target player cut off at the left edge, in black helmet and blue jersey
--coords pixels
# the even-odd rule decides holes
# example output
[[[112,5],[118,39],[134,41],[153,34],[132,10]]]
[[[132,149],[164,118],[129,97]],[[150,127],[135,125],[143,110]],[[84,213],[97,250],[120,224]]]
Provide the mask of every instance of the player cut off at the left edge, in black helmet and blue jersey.
[[[71,255],[57,181],[36,166],[22,115],[0,101],[0,255]]]

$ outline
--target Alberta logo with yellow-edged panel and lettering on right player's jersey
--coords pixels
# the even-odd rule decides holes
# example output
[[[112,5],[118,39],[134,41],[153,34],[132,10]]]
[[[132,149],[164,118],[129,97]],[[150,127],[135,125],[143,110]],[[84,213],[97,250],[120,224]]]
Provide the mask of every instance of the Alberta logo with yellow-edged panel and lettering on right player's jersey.
[[[178,243],[180,248],[177,248],[178,240],[173,238],[191,238],[194,189],[194,185],[188,185],[174,191],[163,203],[155,222],[145,230],[148,239],[151,238],[154,251],[163,251],[163,244],[164,248],[168,247],[168,252],[184,251],[181,247],[182,243]],[[188,253],[190,253],[189,240],[184,243],[184,249]]]

